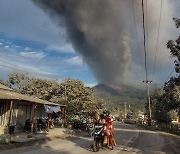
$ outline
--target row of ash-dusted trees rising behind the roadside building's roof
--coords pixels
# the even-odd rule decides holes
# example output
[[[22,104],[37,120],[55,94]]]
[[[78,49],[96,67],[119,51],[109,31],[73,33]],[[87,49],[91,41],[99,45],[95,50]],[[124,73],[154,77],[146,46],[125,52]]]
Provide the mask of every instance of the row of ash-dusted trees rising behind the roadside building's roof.
[[[68,115],[79,111],[95,113],[102,105],[93,97],[90,88],[71,78],[59,83],[56,80],[43,80],[31,78],[28,74],[13,73],[9,75],[8,83],[22,94],[67,105]]]

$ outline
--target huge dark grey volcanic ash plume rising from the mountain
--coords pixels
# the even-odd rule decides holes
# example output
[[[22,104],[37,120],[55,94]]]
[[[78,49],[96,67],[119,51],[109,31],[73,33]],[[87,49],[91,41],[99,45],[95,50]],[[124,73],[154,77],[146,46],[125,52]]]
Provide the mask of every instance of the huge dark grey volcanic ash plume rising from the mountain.
[[[68,40],[97,80],[121,85],[131,60],[127,0],[33,0],[66,29]],[[129,8],[128,8],[129,9]]]

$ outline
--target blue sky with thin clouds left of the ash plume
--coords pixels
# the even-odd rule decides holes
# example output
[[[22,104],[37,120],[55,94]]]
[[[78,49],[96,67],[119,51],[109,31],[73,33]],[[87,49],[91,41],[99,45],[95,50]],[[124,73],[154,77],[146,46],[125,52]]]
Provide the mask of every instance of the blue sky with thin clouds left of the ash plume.
[[[64,30],[31,1],[0,1],[0,21],[1,78],[22,70],[31,76],[58,80],[72,77],[86,85],[97,83],[64,37]]]

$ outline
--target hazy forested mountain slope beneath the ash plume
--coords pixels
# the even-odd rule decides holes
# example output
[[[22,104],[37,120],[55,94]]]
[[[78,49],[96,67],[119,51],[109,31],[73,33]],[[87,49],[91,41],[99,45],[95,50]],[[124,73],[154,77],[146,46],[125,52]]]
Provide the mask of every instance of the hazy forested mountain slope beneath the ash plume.
[[[124,116],[125,102],[127,103],[127,112],[131,113],[133,118],[138,117],[139,111],[145,110],[146,91],[141,88],[124,85],[121,89],[115,89],[99,84],[93,88],[93,91],[96,98],[103,99],[106,107],[119,116]]]

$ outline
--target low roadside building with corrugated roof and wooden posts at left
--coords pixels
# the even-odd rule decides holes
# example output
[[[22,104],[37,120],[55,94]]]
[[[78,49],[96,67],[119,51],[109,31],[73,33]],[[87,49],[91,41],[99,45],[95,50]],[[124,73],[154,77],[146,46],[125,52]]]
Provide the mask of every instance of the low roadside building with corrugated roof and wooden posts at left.
[[[47,118],[45,106],[52,111],[60,111],[64,124],[65,105],[22,95],[0,84],[0,134],[23,131],[27,119],[31,120],[32,132],[35,119]]]

